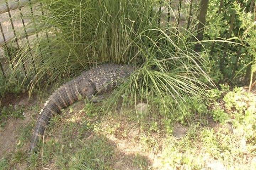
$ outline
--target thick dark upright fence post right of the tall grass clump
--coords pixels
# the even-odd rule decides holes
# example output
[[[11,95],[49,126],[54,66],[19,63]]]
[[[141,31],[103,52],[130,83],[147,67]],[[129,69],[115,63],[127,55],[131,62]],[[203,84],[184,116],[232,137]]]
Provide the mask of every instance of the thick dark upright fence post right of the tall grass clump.
[[[208,7],[208,0],[201,0],[200,12],[198,16],[199,23],[197,25],[197,35],[196,35],[196,38],[198,39],[198,41],[201,41],[203,39],[207,7]],[[201,50],[201,44],[198,42],[194,47],[194,51],[199,52],[200,50]]]

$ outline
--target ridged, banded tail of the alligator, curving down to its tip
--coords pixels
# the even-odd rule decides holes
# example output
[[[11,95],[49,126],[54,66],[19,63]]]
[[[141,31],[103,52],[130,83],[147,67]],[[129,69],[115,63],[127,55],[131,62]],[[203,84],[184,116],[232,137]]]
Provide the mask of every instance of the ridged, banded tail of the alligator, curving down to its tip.
[[[87,90],[85,90],[85,86]],[[39,138],[44,134],[44,130],[49,124],[49,120],[55,114],[59,114],[61,109],[70,106],[78,100],[79,96],[90,97],[95,91],[95,86],[92,82],[81,76],[77,77],[60,86],[46,101],[43,109],[39,113],[36,126],[30,142],[30,151],[37,146]]]

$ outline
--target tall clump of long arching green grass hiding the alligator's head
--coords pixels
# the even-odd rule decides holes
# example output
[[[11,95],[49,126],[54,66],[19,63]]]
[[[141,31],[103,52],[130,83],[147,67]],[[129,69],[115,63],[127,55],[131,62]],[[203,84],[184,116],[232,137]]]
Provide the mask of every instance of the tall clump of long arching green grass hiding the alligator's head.
[[[135,73],[124,83],[121,81],[106,108],[117,106],[120,98],[122,109],[158,98],[165,115],[171,113],[172,107],[180,107],[176,116],[186,124],[194,113],[177,103],[186,103],[187,96],[204,96],[206,89],[214,86],[208,76],[211,66],[207,52],[193,50],[198,42],[186,29],[180,27],[177,34],[177,27],[171,22],[159,25],[159,3],[155,0],[41,2],[47,13],[36,15],[36,23],[43,25],[42,31],[48,33],[49,40],[40,34],[39,41],[33,43],[33,52],[38,54],[34,55],[37,74],[28,85],[30,91],[46,76],[45,88],[100,63],[132,64],[137,67]],[[168,103],[167,97],[174,103]],[[167,108],[168,105],[174,106]]]

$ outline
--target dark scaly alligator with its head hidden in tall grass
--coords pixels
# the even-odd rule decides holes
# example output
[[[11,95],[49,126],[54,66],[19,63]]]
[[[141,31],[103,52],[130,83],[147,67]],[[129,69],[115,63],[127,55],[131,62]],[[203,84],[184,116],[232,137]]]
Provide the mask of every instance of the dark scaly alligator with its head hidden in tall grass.
[[[78,101],[80,97],[91,100],[95,94],[110,91],[118,85],[119,80],[129,77],[134,69],[131,65],[101,64],[82,72],[75,79],[60,86],[48,98],[39,113],[29,150],[33,151],[36,148],[39,138],[43,136],[49,124],[50,118],[59,114],[61,109]]]

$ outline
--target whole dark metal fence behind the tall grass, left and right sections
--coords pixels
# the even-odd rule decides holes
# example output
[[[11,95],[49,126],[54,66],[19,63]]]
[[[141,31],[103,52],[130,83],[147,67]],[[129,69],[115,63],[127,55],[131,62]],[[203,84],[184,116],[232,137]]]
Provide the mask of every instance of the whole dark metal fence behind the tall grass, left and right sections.
[[[253,0],[252,0],[253,1]],[[199,5],[201,2],[201,6]],[[203,3],[202,3],[203,2]],[[177,32],[179,31],[179,27],[186,28],[187,30],[197,31],[197,38],[202,39],[202,32],[199,32],[198,29],[203,29],[205,16],[206,16],[206,8],[202,6],[202,4],[207,4],[208,0],[159,0],[156,5],[156,11],[158,12],[158,24],[164,25],[165,23],[172,22],[176,28]],[[253,3],[252,3],[253,4]],[[220,0],[220,10],[223,5],[223,0]],[[171,7],[171,8],[170,8]],[[251,10],[251,9],[250,9]],[[37,24],[34,22],[34,28],[27,28],[27,23],[31,22],[31,19],[34,19],[34,15],[46,15],[44,11],[42,11],[42,4],[38,2],[38,0],[0,0],[0,69],[2,75],[7,74],[6,70],[8,67],[14,67],[12,64],[14,62],[4,62],[1,60],[1,55],[3,55],[3,49],[6,51],[10,51],[8,48],[8,44],[12,43],[13,46],[16,47],[17,50],[20,50],[22,46],[26,46],[28,49],[29,55],[32,57],[32,61],[30,64],[33,64],[33,52],[31,50],[31,45],[33,45],[32,41],[34,39],[38,40],[37,33]],[[26,16],[30,16],[26,18]],[[234,22],[234,15],[231,16],[230,29],[227,38],[230,37],[232,32],[232,25]],[[198,23],[199,20],[199,24]],[[201,28],[199,28],[201,27]],[[45,37],[48,38],[48,33],[44,33]],[[212,44],[212,49],[214,49],[215,42]],[[1,49],[2,48],[2,49]],[[200,45],[195,48],[195,51],[200,49]],[[226,48],[224,48],[225,50]],[[39,49],[40,51],[41,49]],[[238,56],[240,57],[241,47],[238,50]],[[223,58],[225,57],[225,52],[223,54]],[[212,53],[212,51],[211,51]],[[6,55],[6,54],[5,54]],[[42,53],[40,54],[42,56]],[[7,53],[7,57],[9,61],[12,61],[11,55]],[[236,59],[238,61],[238,59]],[[22,67],[26,74],[26,64],[22,61]],[[34,69],[36,72],[36,69]]]

